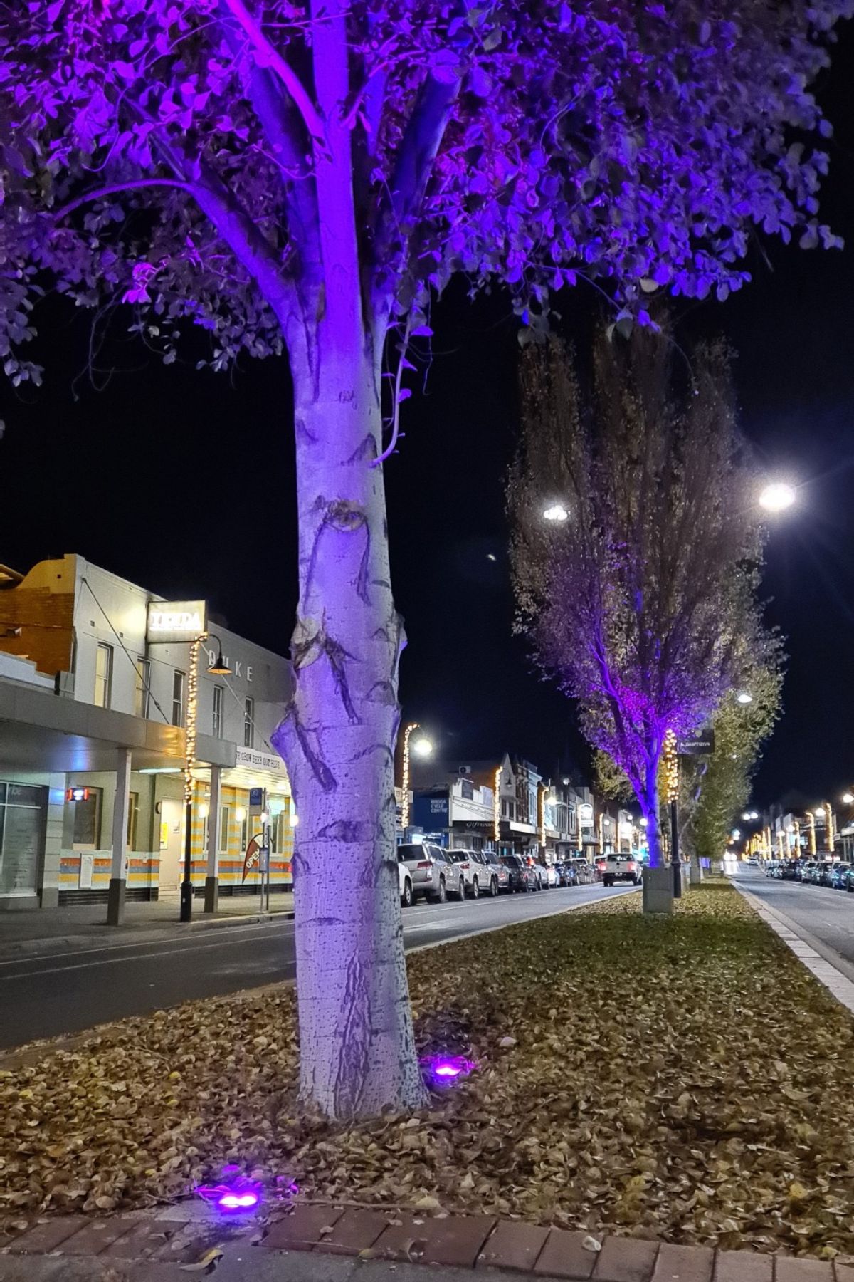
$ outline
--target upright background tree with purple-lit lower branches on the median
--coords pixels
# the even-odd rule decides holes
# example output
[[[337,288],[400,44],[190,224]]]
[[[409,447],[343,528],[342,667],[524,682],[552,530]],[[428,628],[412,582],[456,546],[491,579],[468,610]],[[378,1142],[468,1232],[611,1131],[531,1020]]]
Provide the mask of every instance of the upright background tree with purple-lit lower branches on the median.
[[[667,336],[600,335],[583,396],[566,349],[529,349],[508,483],[517,626],[625,773],[661,863],[665,736],[688,735],[736,676],[762,533],[722,345],[675,391]],[[544,519],[560,499],[565,522]]]

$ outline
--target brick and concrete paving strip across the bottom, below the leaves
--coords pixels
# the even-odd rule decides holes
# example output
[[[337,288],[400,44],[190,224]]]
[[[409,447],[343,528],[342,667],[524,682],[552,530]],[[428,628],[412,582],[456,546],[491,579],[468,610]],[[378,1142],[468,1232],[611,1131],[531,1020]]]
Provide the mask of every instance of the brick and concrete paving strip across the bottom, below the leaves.
[[[0,1249],[0,1282],[854,1282],[840,1260],[716,1251],[542,1228],[494,1215],[426,1215],[301,1203],[241,1222],[197,1200],[36,1222]]]

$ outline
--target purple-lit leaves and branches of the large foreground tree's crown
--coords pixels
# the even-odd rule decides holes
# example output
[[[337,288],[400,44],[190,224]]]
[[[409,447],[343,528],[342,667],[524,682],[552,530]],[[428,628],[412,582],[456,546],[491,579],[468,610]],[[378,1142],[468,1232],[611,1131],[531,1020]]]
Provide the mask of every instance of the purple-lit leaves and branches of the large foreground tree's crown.
[[[283,341],[309,359],[342,129],[374,319],[417,332],[455,272],[501,277],[534,326],[579,278],[639,313],[657,287],[723,299],[755,229],[835,244],[810,83],[851,3],[5,5],[5,372],[38,377],[22,345],[50,278],[149,308],[165,360],[187,324],[215,367]]]

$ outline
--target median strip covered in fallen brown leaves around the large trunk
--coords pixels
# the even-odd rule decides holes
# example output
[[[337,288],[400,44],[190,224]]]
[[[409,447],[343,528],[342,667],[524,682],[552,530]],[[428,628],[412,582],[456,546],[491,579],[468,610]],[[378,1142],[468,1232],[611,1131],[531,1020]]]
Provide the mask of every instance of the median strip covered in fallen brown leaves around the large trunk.
[[[0,1222],[177,1197],[238,1161],[330,1201],[854,1253],[854,1020],[730,886],[639,909],[411,956],[421,1050],[478,1064],[417,1118],[301,1115],[287,988],[0,1073]]]

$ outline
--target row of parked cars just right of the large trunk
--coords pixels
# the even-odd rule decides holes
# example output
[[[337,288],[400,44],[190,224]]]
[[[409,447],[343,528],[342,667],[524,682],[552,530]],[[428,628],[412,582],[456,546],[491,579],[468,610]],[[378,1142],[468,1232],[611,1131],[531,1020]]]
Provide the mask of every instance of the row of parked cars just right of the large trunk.
[[[567,859],[548,868],[522,855],[497,855],[489,850],[446,850],[433,841],[397,847],[401,904],[416,899],[444,904],[449,895],[478,899],[502,891],[539,891],[602,881],[604,860]]]

